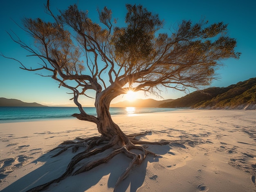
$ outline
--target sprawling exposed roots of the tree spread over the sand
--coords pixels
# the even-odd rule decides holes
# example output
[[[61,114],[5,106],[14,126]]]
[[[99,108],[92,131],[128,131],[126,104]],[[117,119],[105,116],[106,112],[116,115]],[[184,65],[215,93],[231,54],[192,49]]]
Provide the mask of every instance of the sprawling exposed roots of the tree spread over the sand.
[[[102,163],[106,163],[106,162],[110,161],[110,159],[115,157],[115,155],[123,152],[127,157],[131,158],[132,161],[130,162],[130,164],[127,167],[127,169],[125,170],[125,172],[123,174],[121,174],[121,176],[117,180],[117,183],[115,185],[115,187],[116,187],[122,180],[124,180],[127,177],[132,166],[135,164],[137,164],[137,165],[141,164],[142,161],[146,158],[146,155],[150,154],[153,156],[157,156],[157,154],[146,150],[146,148],[144,146],[137,145],[137,144],[166,145],[166,144],[170,143],[168,141],[147,142],[147,141],[139,141],[139,140],[135,139],[135,137],[137,137],[137,136],[146,135],[148,133],[150,133],[150,132],[146,131],[146,132],[139,133],[139,134],[128,135],[127,137],[130,139],[130,142],[124,146],[119,146],[119,148],[116,147],[117,141],[118,141],[117,137],[113,137],[110,141],[108,141],[106,138],[104,138],[102,136],[101,137],[90,137],[87,139],[81,139],[81,138],[77,137],[74,141],[65,141],[65,142],[61,143],[60,146],[51,150],[51,151],[53,151],[56,149],[61,149],[58,153],[56,153],[52,157],[58,156],[59,154],[61,154],[65,150],[67,150],[68,148],[72,148],[73,152],[76,152],[76,150],[79,147],[85,147],[85,150],[83,150],[83,152],[76,154],[72,158],[69,165],[67,166],[65,173],[63,173],[60,177],[58,177],[57,179],[54,179],[52,181],[49,181],[43,185],[39,185],[35,188],[32,188],[32,189],[28,190],[27,192],[38,192],[41,190],[45,190],[52,183],[58,183],[59,181],[65,179],[68,176],[72,176],[72,175],[76,175],[76,174],[79,174],[82,172],[89,171],[92,168],[97,167]],[[102,147],[95,148],[96,146],[99,146],[99,144],[105,144],[105,145]],[[73,150],[74,148],[76,148],[75,151]],[[106,157],[97,159],[95,161],[91,161],[91,162],[86,163],[85,165],[81,166],[80,168],[77,168],[77,163],[79,163],[79,161],[86,159],[88,157],[92,157],[95,154],[104,152],[105,150],[114,149],[114,148],[117,148],[117,149],[113,150]],[[136,154],[136,153],[131,152],[132,149],[137,149],[141,152],[139,154]]]

